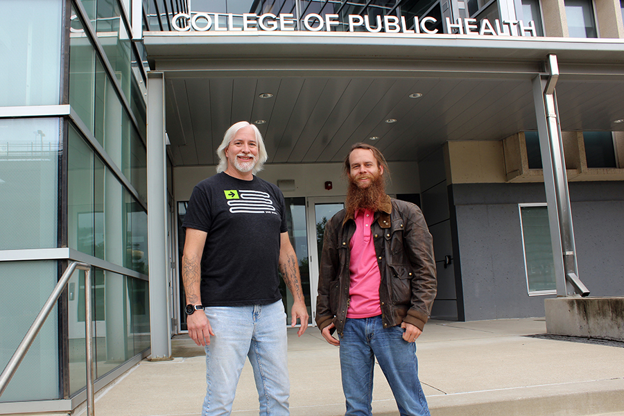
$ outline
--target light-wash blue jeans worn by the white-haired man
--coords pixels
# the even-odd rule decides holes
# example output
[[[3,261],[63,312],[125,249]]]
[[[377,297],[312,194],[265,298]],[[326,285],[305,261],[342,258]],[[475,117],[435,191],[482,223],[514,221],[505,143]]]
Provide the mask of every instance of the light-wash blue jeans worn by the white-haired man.
[[[268,305],[205,308],[214,336],[206,349],[202,416],[229,415],[245,357],[254,370],[261,416],[287,416],[286,313],[281,300]]]

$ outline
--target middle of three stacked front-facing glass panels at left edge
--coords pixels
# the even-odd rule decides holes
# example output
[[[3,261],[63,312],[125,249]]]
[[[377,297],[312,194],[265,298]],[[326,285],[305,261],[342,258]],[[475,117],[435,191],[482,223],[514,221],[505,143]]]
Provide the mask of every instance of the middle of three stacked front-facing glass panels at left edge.
[[[58,245],[59,119],[0,119],[0,250]]]

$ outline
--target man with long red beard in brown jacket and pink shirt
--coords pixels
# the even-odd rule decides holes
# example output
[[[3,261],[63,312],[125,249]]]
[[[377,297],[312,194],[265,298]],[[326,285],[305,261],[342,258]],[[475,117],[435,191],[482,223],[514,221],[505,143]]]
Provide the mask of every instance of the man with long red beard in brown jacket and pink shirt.
[[[354,144],[343,168],[349,189],[325,226],[316,323],[340,346],[345,416],[372,415],[375,358],[399,413],[429,415],[415,340],[437,288],[431,234],[416,205],[385,194],[388,164],[374,146]]]

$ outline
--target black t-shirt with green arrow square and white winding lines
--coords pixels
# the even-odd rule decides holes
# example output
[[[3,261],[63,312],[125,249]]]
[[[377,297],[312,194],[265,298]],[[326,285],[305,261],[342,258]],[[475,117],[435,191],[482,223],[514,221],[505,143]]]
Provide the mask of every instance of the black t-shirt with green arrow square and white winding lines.
[[[184,228],[208,233],[202,254],[204,306],[270,304],[281,299],[280,234],[287,232],[284,195],[259,177],[218,173],[193,189]]]

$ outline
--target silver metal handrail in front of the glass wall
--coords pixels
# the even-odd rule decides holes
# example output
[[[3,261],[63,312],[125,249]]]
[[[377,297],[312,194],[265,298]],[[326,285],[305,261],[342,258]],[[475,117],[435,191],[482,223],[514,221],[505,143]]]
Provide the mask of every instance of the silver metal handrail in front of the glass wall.
[[[33,345],[33,341],[37,338],[37,334],[42,328],[44,322],[50,315],[56,301],[60,297],[61,293],[63,293],[65,286],[67,286],[67,282],[71,275],[73,275],[74,270],[85,270],[85,338],[86,338],[86,364],[87,364],[87,416],[94,415],[94,395],[93,395],[93,339],[92,339],[92,322],[91,322],[91,264],[83,263],[80,261],[72,261],[69,263],[69,266],[61,276],[60,280],[54,287],[50,297],[46,300],[46,303],[42,307],[39,315],[35,318],[35,322],[31,325],[28,332],[24,336],[24,339],[21,340],[19,346],[15,350],[15,353],[7,363],[6,367],[2,374],[0,374],[0,396],[2,396],[4,390],[11,381],[13,375],[17,371],[17,367],[26,356],[26,352]]]

